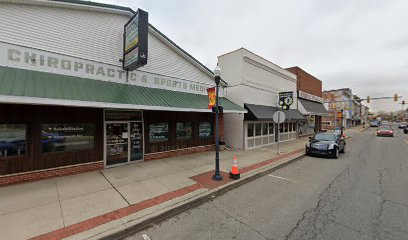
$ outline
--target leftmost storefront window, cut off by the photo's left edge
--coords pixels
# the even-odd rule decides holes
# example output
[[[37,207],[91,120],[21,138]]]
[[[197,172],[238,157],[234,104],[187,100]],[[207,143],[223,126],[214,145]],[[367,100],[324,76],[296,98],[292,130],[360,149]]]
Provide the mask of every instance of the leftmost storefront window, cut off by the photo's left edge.
[[[24,124],[0,124],[0,158],[24,155],[25,144]]]

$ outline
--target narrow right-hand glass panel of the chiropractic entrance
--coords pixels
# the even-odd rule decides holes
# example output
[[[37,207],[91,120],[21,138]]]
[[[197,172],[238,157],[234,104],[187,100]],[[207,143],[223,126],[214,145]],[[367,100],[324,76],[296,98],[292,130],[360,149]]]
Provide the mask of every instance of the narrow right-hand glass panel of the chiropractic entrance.
[[[143,160],[143,124],[130,123],[130,161]]]

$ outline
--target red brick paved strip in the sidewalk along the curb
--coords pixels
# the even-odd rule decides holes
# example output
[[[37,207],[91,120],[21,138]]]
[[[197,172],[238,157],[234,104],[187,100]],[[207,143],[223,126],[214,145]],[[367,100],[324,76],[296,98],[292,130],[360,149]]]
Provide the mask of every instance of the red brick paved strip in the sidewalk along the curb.
[[[267,166],[269,164],[278,162],[280,160],[283,160],[287,157],[295,157],[297,155],[299,155],[300,153],[302,153],[304,151],[304,149],[298,149],[289,153],[284,153],[281,154],[277,157],[274,157],[270,160],[266,160],[260,163],[256,163],[247,167],[244,167],[241,169],[241,173],[248,173],[252,170],[256,170],[259,168],[262,168],[264,166]],[[212,190],[212,189],[216,189],[216,188],[220,188],[223,185],[226,185],[228,183],[231,183],[232,180],[229,179],[228,173],[226,172],[222,172],[221,171],[221,175],[223,176],[223,180],[216,182],[212,180],[212,175],[214,174],[213,171],[209,171],[209,172],[205,172],[202,174],[198,174],[195,175],[193,177],[191,177],[192,180],[196,181],[197,183],[191,186],[187,186],[184,187],[182,189],[173,191],[173,192],[169,192],[169,193],[165,193],[163,195],[151,198],[151,199],[147,199],[145,201],[97,216],[97,217],[93,217],[90,218],[88,220],[76,223],[76,224],[72,224],[70,226],[66,226],[64,228],[61,229],[57,229],[55,231],[49,232],[49,233],[45,233],[43,235],[31,238],[33,240],[49,240],[49,239],[63,239],[63,238],[67,238],[70,236],[73,236],[75,234],[90,230],[92,228],[98,227],[100,225],[118,220],[120,218],[123,218],[125,216],[140,212],[144,209],[156,206],[158,204],[167,202],[169,200],[175,199],[177,197],[181,197],[184,196],[188,193],[194,192],[196,190],[199,189],[208,189],[208,190]],[[239,184],[240,185],[240,184]],[[238,186],[238,185],[237,185]]]

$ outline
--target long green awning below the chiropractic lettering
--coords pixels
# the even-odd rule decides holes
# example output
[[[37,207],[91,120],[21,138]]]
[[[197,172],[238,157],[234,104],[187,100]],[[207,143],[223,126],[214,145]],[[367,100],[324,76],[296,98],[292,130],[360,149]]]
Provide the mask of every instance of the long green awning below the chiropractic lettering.
[[[210,112],[208,97],[0,66],[0,102]],[[224,112],[246,110],[220,98]]]

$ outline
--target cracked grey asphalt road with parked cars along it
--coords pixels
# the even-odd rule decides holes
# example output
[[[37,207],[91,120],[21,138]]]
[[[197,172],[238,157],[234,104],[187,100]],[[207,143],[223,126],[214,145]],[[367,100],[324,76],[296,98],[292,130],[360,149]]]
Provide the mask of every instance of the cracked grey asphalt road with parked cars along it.
[[[127,239],[408,239],[408,135],[355,133]],[[284,178],[284,179],[283,179]]]

